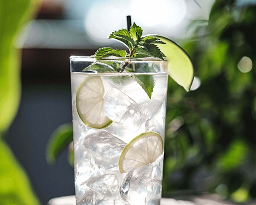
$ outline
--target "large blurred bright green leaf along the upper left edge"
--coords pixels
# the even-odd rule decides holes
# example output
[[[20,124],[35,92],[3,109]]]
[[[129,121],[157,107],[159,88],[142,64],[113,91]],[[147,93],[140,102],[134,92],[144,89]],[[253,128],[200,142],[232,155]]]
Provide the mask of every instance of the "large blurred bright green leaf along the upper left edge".
[[[15,48],[15,43],[37,3],[30,0],[0,1],[0,132],[7,130],[18,111],[21,52]]]

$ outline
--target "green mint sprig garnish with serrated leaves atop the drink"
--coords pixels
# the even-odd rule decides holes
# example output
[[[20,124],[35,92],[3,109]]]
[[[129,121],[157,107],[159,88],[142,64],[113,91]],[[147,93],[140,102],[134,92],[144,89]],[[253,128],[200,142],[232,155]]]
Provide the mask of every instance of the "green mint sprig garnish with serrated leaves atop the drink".
[[[165,60],[165,55],[160,51],[156,44],[165,44],[155,36],[142,36],[143,30],[135,23],[130,28],[114,31],[109,35],[110,39],[118,40],[127,47],[126,50],[113,49],[104,47],[95,52],[94,57],[98,60],[83,71],[96,72],[132,72],[131,69],[126,69],[129,61],[112,62],[103,60],[102,57],[125,57],[125,58],[147,58],[154,57]],[[146,91],[149,98],[152,96],[154,89],[154,77],[152,75],[138,75],[135,80]]]

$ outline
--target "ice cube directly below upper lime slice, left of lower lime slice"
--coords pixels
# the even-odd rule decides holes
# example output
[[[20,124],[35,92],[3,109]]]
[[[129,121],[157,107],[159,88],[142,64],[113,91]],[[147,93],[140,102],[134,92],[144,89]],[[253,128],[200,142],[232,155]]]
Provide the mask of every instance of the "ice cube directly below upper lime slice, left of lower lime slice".
[[[118,159],[126,143],[112,133],[101,131],[88,135],[83,145],[91,151],[99,166],[106,169],[118,169]]]

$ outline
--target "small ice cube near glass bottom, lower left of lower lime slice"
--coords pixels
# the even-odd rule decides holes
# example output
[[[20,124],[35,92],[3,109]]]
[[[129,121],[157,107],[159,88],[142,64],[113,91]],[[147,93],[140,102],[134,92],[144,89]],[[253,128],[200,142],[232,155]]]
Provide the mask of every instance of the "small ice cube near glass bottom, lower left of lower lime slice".
[[[86,185],[103,196],[111,197],[119,190],[119,179],[115,174],[104,174],[89,179]]]

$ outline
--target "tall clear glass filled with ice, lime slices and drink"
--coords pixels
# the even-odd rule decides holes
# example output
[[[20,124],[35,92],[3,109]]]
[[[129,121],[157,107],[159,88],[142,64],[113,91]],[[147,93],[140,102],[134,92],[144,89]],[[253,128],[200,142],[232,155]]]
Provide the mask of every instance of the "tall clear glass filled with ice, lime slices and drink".
[[[104,58],[104,66],[126,69],[95,73],[83,72],[96,62],[93,57],[71,56],[70,62],[77,204],[160,204],[167,62]],[[153,92],[146,92],[152,82]],[[95,90],[100,93],[92,99]],[[94,119],[99,113],[103,122]],[[147,138],[152,133],[156,137]],[[141,165],[152,153],[159,154]]]

